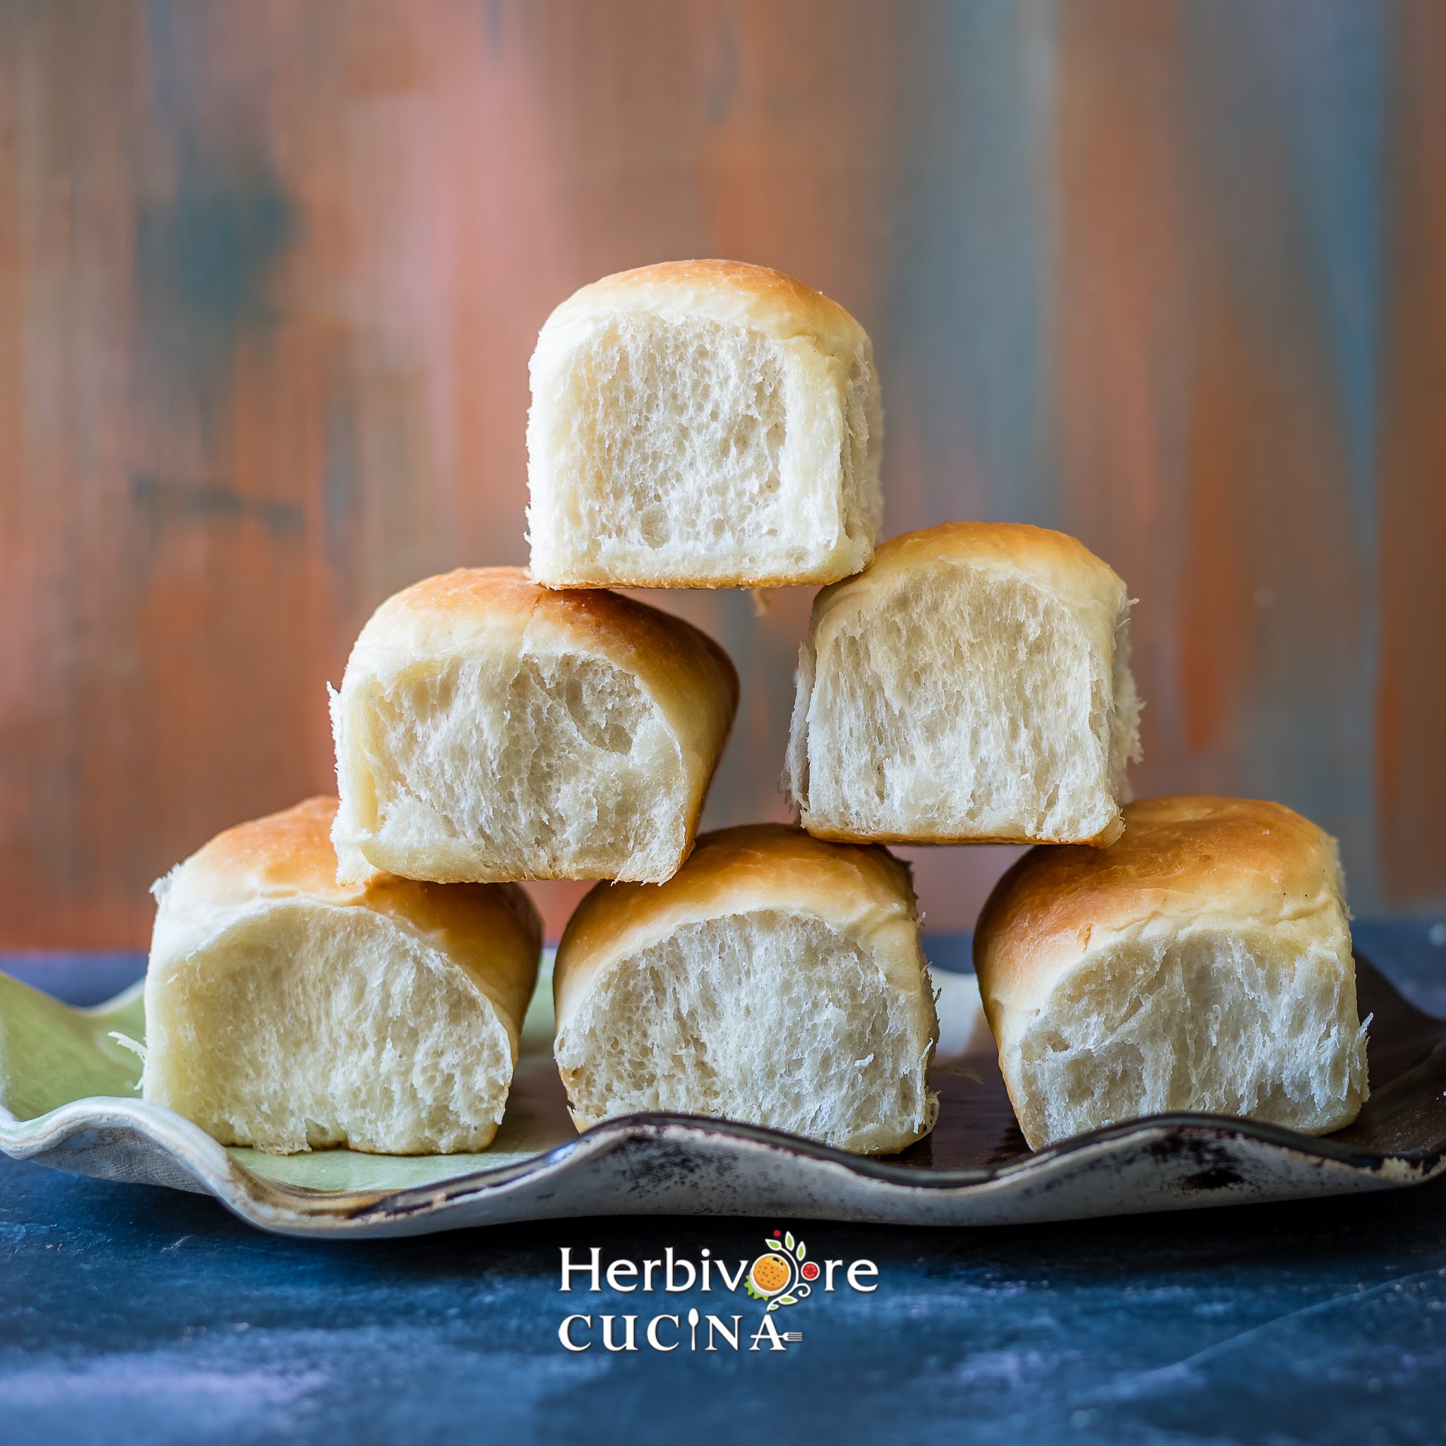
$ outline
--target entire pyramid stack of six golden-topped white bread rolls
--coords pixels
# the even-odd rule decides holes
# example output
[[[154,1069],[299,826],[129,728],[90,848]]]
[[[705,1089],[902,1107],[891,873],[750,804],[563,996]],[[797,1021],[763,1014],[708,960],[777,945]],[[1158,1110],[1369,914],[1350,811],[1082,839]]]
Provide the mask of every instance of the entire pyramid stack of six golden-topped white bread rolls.
[[[1307,1131],[1365,1095],[1333,842],[1275,804],[1131,804],[1124,583],[1073,538],[956,522],[882,545],[863,328],[733,262],[586,286],[532,357],[531,568],[385,602],[331,696],[338,798],[158,885],[147,1099],[228,1144],[483,1148],[541,925],[586,1129],[646,1111],[844,1150],[924,1135],[938,1037],[888,843],[1034,843],[976,933],[1040,1147],[1209,1109]],[[798,826],[696,836],[737,674],[613,587],[824,584],[784,788]]]

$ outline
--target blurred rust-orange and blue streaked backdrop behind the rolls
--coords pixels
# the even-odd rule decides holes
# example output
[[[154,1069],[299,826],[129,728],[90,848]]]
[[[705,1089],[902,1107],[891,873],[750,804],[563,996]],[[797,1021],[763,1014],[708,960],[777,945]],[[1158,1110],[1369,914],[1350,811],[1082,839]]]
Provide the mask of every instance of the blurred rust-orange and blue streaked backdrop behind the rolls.
[[[886,531],[1128,580],[1138,791],[1446,904],[1446,4],[0,0],[0,946],[328,787],[372,607],[525,560],[548,309],[681,256],[869,328]],[[779,817],[808,594],[661,602],[746,680],[710,821]]]

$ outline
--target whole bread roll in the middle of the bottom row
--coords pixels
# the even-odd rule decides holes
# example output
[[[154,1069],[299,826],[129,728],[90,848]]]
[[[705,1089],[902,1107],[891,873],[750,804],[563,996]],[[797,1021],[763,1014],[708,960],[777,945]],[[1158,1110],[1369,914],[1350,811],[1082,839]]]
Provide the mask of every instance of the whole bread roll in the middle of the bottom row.
[[[934,1124],[938,1038],[908,866],[756,824],[662,888],[599,885],[552,975],[573,1121],[641,1111],[902,1150]]]

